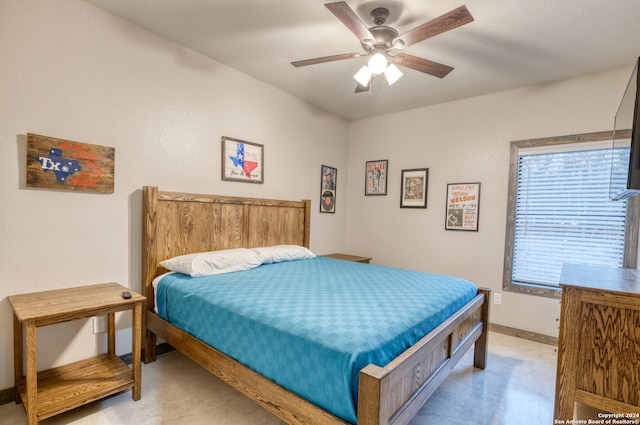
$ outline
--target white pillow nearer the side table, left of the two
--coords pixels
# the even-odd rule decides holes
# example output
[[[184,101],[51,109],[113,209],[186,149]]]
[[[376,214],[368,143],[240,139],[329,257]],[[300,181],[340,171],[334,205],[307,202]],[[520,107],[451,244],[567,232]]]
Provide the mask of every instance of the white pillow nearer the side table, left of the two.
[[[247,248],[234,248],[181,255],[161,261],[160,265],[174,272],[198,277],[248,270],[258,267],[262,262],[263,259],[257,252]]]

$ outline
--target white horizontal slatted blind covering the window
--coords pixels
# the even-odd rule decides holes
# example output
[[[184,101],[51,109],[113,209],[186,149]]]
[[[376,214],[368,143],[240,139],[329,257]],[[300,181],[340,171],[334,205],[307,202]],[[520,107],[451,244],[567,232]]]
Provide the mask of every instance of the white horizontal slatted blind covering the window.
[[[519,151],[513,282],[558,286],[564,263],[622,267],[627,202],[609,194],[626,185],[612,161],[628,158],[629,148]]]

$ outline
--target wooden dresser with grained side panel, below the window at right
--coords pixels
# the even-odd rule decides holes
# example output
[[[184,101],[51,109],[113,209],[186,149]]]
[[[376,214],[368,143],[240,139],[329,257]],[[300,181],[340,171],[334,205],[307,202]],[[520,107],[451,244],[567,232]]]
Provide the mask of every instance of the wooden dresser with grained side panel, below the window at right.
[[[565,265],[560,285],[555,423],[576,402],[639,420],[640,271]]]

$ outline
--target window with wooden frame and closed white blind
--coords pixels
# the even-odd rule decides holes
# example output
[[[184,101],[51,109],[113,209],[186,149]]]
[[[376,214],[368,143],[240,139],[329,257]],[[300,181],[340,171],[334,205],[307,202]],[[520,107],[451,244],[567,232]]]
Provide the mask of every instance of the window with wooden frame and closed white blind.
[[[511,142],[503,289],[558,297],[565,263],[635,267],[638,200],[612,160],[613,132]],[[640,198],[640,197],[637,197]]]

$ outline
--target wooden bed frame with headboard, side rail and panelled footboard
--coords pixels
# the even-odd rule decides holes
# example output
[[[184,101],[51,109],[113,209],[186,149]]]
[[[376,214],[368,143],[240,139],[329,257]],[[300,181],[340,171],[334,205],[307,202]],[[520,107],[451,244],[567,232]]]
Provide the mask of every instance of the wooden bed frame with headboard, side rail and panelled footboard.
[[[195,252],[236,248],[273,245],[308,248],[309,239],[310,201],[163,192],[156,187],[144,187],[142,278],[148,304],[144,361],[155,360],[156,339],[160,337],[288,424],[353,423],[350,416],[336,415],[331,409],[308,401],[276,383],[278,379],[269,379],[233,356],[212,348],[156,312],[153,281],[157,282],[156,278],[167,272],[160,265],[161,261]],[[301,267],[306,261],[314,267],[331,261],[338,262],[330,264],[332,267],[346,263],[327,258],[292,263]],[[371,265],[358,264],[356,267]],[[373,273],[374,270],[359,269],[359,272]],[[474,344],[474,366],[484,369],[489,298],[488,289],[474,289],[464,305],[447,313],[441,323],[426,335],[420,335],[417,342],[393,360],[383,365],[362,367],[357,373],[355,389],[357,423],[408,423]],[[269,362],[265,363],[268,365]]]

